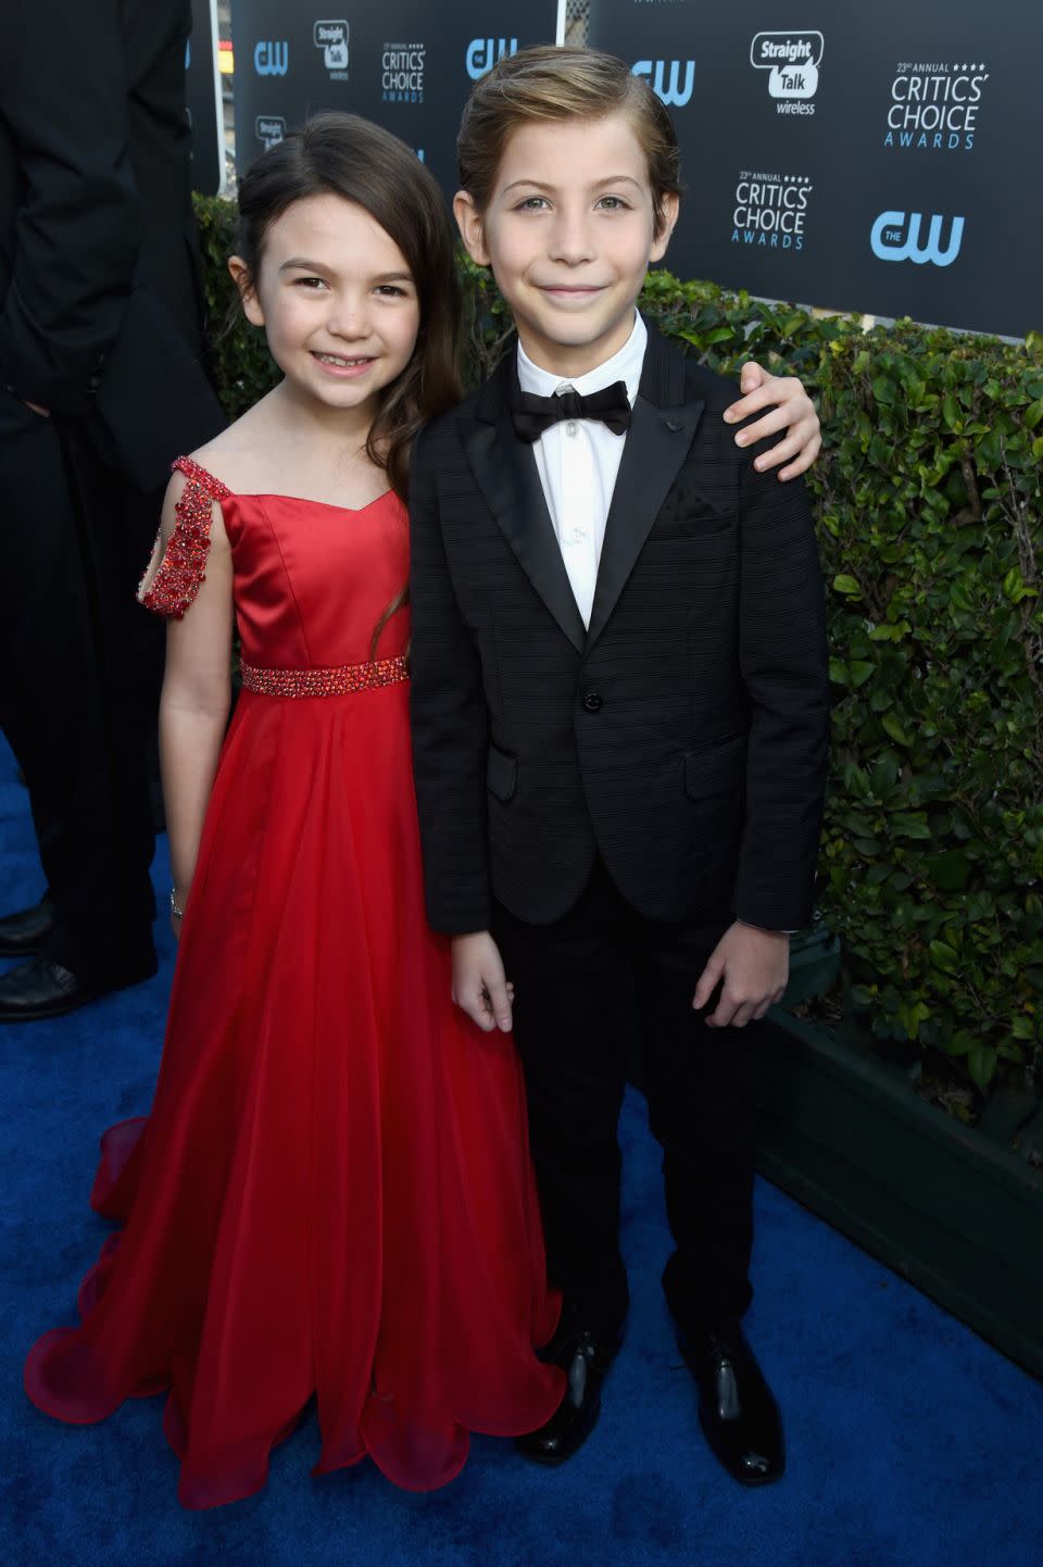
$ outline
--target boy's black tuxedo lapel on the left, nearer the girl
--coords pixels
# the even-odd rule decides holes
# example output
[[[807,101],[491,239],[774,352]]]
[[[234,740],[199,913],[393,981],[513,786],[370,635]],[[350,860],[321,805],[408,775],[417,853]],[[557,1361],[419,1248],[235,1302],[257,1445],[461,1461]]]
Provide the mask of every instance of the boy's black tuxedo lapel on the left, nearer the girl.
[[[583,652],[587,632],[568,581],[532,447],[518,440],[511,420],[514,357],[484,387],[476,422],[464,431],[471,473],[507,544],[559,627]]]

